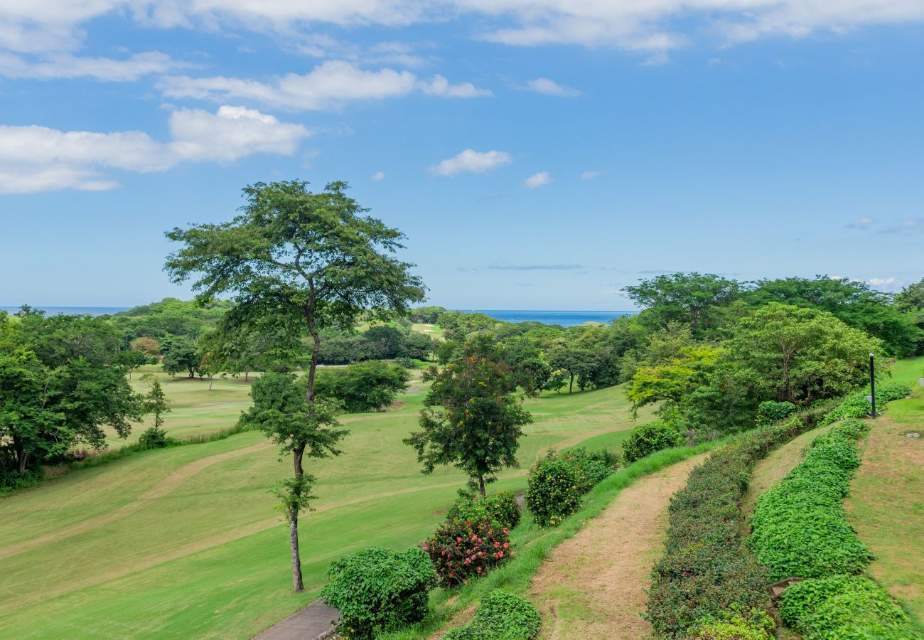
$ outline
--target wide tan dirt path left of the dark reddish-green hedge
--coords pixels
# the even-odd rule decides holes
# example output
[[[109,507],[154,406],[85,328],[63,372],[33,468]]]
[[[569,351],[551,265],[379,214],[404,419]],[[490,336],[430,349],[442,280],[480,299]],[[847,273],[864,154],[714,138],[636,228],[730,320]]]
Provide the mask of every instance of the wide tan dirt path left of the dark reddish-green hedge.
[[[651,567],[663,551],[667,507],[708,454],[639,478],[574,537],[554,549],[533,578],[530,599],[540,638],[638,640]]]

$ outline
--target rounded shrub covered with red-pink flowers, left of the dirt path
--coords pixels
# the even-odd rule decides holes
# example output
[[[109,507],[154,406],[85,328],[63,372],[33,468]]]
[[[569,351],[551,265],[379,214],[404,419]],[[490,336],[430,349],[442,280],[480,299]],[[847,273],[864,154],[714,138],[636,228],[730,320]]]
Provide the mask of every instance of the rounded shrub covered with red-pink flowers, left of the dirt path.
[[[512,553],[509,529],[489,520],[447,520],[422,547],[444,586],[484,575]]]

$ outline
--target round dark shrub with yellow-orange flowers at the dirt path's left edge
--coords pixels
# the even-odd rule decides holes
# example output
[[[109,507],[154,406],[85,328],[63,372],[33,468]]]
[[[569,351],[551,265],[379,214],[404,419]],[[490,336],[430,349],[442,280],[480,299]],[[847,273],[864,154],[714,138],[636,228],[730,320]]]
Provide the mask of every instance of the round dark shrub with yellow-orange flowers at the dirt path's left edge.
[[[526,504],[540,526],[555,526],[580,508],[587,478],[574,462],[549,451],[529,469]]]

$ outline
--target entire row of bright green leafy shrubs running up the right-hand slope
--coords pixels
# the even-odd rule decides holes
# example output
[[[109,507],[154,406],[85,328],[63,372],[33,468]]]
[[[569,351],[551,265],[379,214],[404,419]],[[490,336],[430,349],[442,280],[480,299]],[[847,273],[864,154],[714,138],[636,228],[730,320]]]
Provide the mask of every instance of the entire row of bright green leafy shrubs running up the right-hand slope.
[[[907,388],[882,385],[884,405]],[[807,640],[924,638],[906,612],[875,582],[857,575],[869,549],[847,523],[844,498],[859,467],[857,441],[869,425],[867,393],[850,394],[822,419],[834,425],[816,437],[805,461],[757,502],[748,546],[772,579],[808,578],[789,586],[779,602],[783,622]]]

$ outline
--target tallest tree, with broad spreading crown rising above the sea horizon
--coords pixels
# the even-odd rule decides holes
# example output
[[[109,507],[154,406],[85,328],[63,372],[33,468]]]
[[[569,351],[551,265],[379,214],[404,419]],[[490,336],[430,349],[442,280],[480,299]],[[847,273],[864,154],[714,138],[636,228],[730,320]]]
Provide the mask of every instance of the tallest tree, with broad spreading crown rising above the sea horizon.
[[[319,192],[301,180],[259,182],[244,189],[246,203],[230,222],[166,234],[184,245],[166,263],[175,282],[196,277],[193,289],[201,303],[232,297],[226,326],[310,335],[307,409],[299,413],[306,428],[324,426],[314,392],[322,329],[352,327],[360,315],[389,320],[424,298],[420,278],[410,274],[413,265],[395,257],[404,235],[364,215],[368,209],[348,197],[346,189],[345,182],[332,182]],[[291,504],[298,507],[305,446],[293,441],[291,452]],[[298,520],[292,522],[293,581],[301,591]]]

